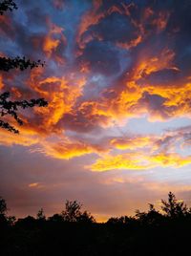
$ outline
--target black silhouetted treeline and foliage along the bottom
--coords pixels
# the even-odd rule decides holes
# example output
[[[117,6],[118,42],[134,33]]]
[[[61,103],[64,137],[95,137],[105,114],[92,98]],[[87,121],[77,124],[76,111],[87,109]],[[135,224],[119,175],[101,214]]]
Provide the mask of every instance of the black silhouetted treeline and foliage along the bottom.
[[[161,203],[161,208],[171,209],[180,202],[170,192],[168,200]],[[10,223],[6,202],[1,199],[0,208],[6,214],[0,220],[0,252],[2,256],[190,255],[191,212],[184,206],[181,204],[176,218],[167,214],[166,208],[161,214],[149,204],[147,212],[137,210],[134,217],[113,217],[97,224],[81,222],[81,204],[68,201],[61,214],[48,219],[40,209],[36,219],[28,216]]]

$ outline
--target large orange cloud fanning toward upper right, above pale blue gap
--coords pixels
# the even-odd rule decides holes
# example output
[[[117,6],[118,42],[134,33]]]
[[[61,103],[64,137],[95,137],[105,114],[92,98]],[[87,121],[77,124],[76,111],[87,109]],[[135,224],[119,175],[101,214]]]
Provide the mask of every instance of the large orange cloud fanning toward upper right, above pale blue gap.
[[[138,59],[138,64],[130,73],[126,75],[126,87],[117,92],[117,86],[114,89],[116,96],[109,100],[105,99],[96,103],[95,112],[101,112],[102,115],[111,119],[120,120],[127,117],[139,117],[142,114],[150,114],[150,120],[165,120],[169,117],[189,116],[191,96],[190,83],[183,81],[181,84],[160,84],[158,86],[151,83],[139,85],[139,81],[148,75],[155,74],[165,69],[179,71],[175,67],[173,60],[175,53],[164,49],[158,56],[149,56],[143,54]],[[111,89],[110,89],[111,90]],[[144,99],[144,95],[159,96],[163,98],[163,103],[155,109],[151,109],[151,103]],[[102,107],[108,106],[108,107]]]

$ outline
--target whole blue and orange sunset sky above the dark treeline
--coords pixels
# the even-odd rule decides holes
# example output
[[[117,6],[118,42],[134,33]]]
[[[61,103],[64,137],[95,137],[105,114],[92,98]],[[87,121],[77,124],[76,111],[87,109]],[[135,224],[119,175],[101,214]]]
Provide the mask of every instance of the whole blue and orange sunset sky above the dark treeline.
[[[0,16],[0,54],[43,68],[0,74],[21,112],[20,135],[0,131],[0,195],[21,217],[77,200],[99,221],[191,204],[191,2],[16,1]]]

